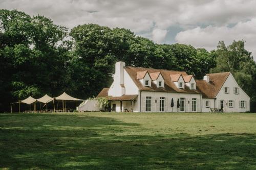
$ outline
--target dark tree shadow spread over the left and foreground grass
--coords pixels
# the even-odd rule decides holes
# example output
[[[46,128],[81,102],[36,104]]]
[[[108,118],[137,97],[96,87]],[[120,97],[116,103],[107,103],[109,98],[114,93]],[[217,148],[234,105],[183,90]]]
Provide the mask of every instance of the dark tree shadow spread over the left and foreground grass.
[[[8,116],[1,116],[0,168],[256,168],[254,134],[118,135],[140,125],[87,115]]]

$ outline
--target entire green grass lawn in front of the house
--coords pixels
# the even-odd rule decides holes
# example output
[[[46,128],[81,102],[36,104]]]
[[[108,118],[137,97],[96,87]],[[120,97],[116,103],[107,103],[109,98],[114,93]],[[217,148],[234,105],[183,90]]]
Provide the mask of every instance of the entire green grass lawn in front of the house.
[[[0,169],[256,169],[253,113],[0,113]]]

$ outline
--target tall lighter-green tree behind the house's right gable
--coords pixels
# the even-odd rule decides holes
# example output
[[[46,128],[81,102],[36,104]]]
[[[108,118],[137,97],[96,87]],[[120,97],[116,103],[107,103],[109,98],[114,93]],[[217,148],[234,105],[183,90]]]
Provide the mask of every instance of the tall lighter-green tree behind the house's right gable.
[[[251,53],[245,50],[245,41],[233,41],[226,46],[223,41],[218,44],[216,55],[216,67],[211,72],[231,71],[239,86],[251,98],[251,111],[256,111],[256,63]]]

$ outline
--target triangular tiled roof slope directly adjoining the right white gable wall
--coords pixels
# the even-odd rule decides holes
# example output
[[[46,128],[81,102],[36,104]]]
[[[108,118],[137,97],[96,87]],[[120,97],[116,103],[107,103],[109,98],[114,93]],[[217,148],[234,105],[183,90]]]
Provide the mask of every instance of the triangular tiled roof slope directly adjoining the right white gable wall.
[[[214,74],[207,74],[209,76],[210,82],[214,84],[215,96],[219,93],[222,85],[225,83],[230,72],[219,72]]]

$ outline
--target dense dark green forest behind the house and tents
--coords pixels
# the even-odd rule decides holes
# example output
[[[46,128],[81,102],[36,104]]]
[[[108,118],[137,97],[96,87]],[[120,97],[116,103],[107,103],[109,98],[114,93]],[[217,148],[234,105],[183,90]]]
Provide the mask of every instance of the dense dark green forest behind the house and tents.
[[[29,95],[79,99],[96,96],[112,83],[114,64],[182,70],[202,79],[207,73],[231,71],[256,106],[256,64],[245,40],[216,42],[208,52],[187,44],[157,44],[124,28],[95,24],[71,30],[44,16],[0,10],[0,112]]]

